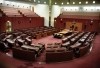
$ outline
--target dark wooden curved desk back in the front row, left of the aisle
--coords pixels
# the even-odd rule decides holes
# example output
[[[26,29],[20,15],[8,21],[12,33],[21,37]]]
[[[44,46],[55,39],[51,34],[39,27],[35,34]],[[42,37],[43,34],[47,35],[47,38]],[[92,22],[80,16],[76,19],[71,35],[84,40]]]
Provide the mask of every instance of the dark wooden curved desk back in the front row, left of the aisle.
[[[14,58],[35,61],[35,53],[34,51],[22,50],[19,48],[12,48],[12,53]]]

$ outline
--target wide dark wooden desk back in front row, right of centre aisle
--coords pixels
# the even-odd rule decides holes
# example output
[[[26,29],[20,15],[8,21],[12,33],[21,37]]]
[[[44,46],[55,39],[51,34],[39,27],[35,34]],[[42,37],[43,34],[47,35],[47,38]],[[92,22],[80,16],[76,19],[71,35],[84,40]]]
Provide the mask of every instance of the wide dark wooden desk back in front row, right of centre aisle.
[[[73,51],[46,53],[46,62],[62,62],[72,59],[73,59]]]

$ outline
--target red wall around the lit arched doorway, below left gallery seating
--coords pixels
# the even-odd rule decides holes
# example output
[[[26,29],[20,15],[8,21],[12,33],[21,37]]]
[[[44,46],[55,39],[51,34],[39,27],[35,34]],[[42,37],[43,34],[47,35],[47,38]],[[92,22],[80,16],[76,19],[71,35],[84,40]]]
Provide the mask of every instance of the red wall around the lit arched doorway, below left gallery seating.
[[[5,31],[7,21],[12,22],[12,30],[44,26],[43,17],[0,17],[0,32]]]

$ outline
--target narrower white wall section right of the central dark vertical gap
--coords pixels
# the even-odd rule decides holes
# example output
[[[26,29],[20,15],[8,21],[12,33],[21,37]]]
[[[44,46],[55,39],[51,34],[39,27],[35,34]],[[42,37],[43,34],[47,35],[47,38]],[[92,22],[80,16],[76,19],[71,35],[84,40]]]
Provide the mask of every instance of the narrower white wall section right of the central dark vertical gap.
[[[51,11],[51,26],[54,26],[54,18],[58,17],[60,14],[60,6],[53,5]]]

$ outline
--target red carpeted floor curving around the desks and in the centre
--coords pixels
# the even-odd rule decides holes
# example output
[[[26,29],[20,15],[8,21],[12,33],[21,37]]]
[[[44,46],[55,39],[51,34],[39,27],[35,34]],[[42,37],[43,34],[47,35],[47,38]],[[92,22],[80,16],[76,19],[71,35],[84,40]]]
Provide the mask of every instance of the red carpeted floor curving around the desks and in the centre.
[[[33,40],[32,43],[38,43],[38,42],[44,42],[47,44],[51,42],[52,43],[61,42],[61,40],[53,39],[52,36],[48,36],[42,39]],[[4,65],[12,66],[11,68],[100,68],[100,54],[99,53],[100,53],[100,35],[97,35],[93,42],[92,51],[88,55],[72,60],[72,61],[61,62],[61,63],[50,63],[50,64],[42,63],[41,64],[37,62],[28,62],[24,60],[15,59],[0,52],[0,62],[1,63],[4,62],[3,63]],[[9,68],[9,67],[5,67],[5,68]]]

